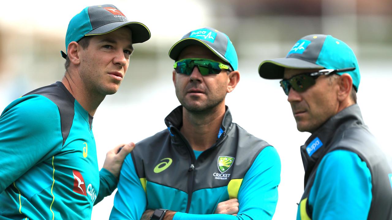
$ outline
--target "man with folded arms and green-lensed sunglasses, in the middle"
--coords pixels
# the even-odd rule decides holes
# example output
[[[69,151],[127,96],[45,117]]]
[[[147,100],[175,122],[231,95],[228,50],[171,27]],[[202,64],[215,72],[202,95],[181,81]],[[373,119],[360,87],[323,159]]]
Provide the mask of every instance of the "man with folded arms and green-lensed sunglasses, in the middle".
[[[165,118],[167,129],[125,159],[111,219],[271,219],[280,159],[232,123],[225,96],[240,72],[229,37],[209,27],[191,31],[169,56],[181,106]]]

